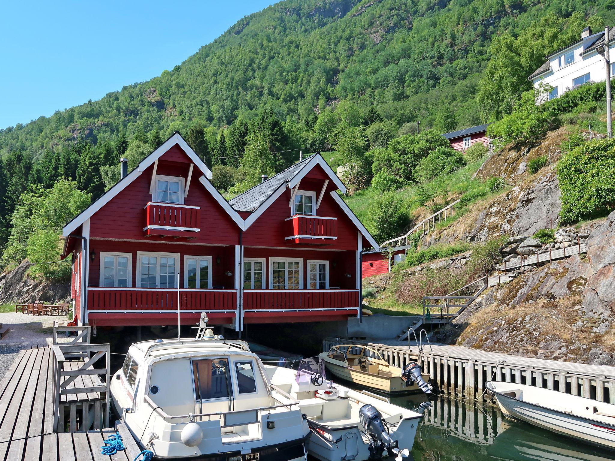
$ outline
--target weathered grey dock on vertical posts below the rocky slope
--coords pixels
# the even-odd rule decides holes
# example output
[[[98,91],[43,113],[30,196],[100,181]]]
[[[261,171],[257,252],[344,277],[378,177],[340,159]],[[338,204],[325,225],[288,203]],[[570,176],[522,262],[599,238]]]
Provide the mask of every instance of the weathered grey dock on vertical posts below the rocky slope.
[[[323,339],[323,350],[336,344],[366,344],[378,350],[384,360],[402,367],[415,361],[429,373],[441,393],[468,399],[491,400],[485,383],[494,380],[545,387],[571,395],[615,404],[615,367],[518,357],[462,346],[350,341]]]

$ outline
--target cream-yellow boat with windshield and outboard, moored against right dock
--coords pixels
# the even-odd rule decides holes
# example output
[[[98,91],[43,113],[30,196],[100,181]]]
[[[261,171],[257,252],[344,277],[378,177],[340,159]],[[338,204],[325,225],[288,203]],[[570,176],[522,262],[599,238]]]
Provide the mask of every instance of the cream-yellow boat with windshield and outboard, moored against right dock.
[[[391,366],[380,353],[364,345],[341,344],[319,354],[327,369],[336,377],[389,394],[431,393],[429,374],[423,374],[416,363],[405,369]]]

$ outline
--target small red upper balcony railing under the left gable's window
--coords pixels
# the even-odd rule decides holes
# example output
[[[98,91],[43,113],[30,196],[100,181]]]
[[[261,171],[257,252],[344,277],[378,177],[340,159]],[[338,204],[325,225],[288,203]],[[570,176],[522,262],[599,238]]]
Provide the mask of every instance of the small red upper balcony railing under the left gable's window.
[[[146,237],[195,238],[200,230],[200,207],[148,202],[144,208]]]

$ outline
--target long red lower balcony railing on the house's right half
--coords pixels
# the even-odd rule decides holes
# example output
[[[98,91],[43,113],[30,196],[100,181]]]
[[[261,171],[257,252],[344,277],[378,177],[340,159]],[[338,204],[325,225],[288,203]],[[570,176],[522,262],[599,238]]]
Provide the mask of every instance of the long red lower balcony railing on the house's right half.
[[[244,310],[359,309],[359,290],[244,290]]]

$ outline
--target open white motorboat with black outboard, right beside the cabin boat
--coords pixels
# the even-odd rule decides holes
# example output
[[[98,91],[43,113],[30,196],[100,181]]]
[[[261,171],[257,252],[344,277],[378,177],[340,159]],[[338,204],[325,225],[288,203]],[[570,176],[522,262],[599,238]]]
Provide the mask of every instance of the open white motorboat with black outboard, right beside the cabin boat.
[[[308,453],[321,461],[402,461],[414,444],[423,414],[386,397],[333,385],[320,357],[305,358],[297,371],[265,366],[273,385],[299,401],[312,434]]]

